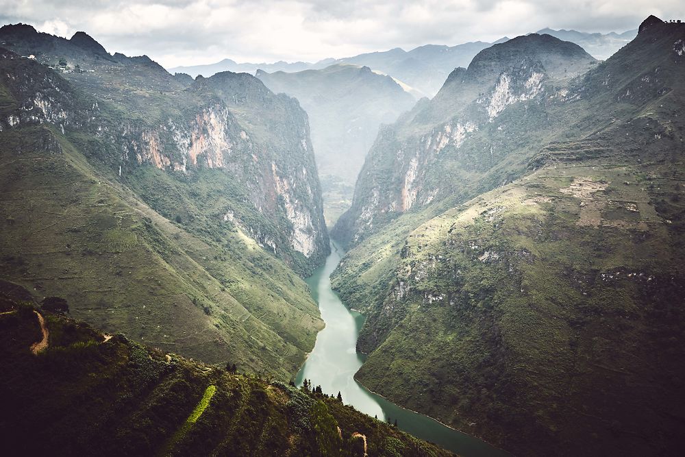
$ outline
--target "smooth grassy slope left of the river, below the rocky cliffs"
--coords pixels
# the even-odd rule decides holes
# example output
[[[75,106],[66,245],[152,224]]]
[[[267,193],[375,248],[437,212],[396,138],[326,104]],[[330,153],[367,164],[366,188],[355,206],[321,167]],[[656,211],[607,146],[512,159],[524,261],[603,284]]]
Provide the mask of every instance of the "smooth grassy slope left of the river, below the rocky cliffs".
[[[3,138],[2,277],[109,332],[208,362],[230,352],[280,379],[297,371],[323,325],[282,262],[238,228],[213,241],[164,219],[49,127]]]

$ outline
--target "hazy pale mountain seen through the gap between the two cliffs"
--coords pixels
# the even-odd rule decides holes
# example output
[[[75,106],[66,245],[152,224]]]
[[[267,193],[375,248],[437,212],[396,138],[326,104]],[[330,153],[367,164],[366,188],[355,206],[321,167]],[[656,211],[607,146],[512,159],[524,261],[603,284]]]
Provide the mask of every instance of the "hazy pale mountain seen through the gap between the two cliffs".
[[[273,92],[297,98],[307,111],[326,221],[332,226],[349,208],[354,182],[378,127],[412,108],[414,97],[391,77],[353,65],[299,73],[258,71],[256,76]]]

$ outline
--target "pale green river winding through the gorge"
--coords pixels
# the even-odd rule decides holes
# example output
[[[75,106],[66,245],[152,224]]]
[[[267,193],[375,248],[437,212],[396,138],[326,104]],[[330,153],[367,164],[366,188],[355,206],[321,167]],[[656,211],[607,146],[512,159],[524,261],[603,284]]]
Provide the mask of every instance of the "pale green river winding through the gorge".
[[[387,420],[390,417],[393,422],[397,419],[397,426],[401,430],[464,457],[510,456],[474,436],[401,408],[356,382],[354,373],[364,363],[364,356],[356,351],[357,336],[364,317],[359,312],[347,309],[331,288],[329,276],[345,254],[336,243],[331,243],[331,251],[325,265],[316,269],[306,280],[312,290],[312,297],[319,304],[326,327],[316,336],[312,353],[297,373],[297,386],[301,386],[306,378],[312,380],[314,385],[321,385],[325,393],[336,395],[340,391],[345,404],[350,404],[367,415],[377,416],[378,419]]]

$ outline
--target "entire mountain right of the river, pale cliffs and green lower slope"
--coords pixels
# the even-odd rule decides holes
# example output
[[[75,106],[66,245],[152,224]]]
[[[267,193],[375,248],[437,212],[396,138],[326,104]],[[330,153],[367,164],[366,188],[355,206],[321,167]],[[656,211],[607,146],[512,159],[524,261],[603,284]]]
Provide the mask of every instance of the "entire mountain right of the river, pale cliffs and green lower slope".
[[[358,379],[516,454],[674,454],[685,25],[650,17],[567,80],[564,59],[549,59],[562,45],[526,38],[549,63],[512,70],[525,41],[493,47],[371,151],[356,190],[367,219],[339,229],[354,247],[334,276],[368,315]],[[535,94],[531,68],[545,75]],[[462,77],[475,69],[488,85]],[[425,147],[468,121],[459,141]],[[410,158],[418,181],[398,192],[388,182],[406,182]]]

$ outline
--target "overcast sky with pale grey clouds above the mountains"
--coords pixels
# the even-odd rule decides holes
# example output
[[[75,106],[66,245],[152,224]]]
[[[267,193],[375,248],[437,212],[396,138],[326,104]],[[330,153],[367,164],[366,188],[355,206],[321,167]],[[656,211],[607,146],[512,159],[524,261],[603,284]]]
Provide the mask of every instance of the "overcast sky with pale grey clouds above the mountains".
[[[163,66],[316,61],[428,43],[494,41],[543,27],[625,32],[655,14],[685,19],[683,0],[0,0],[0,24],[30,23]]]

